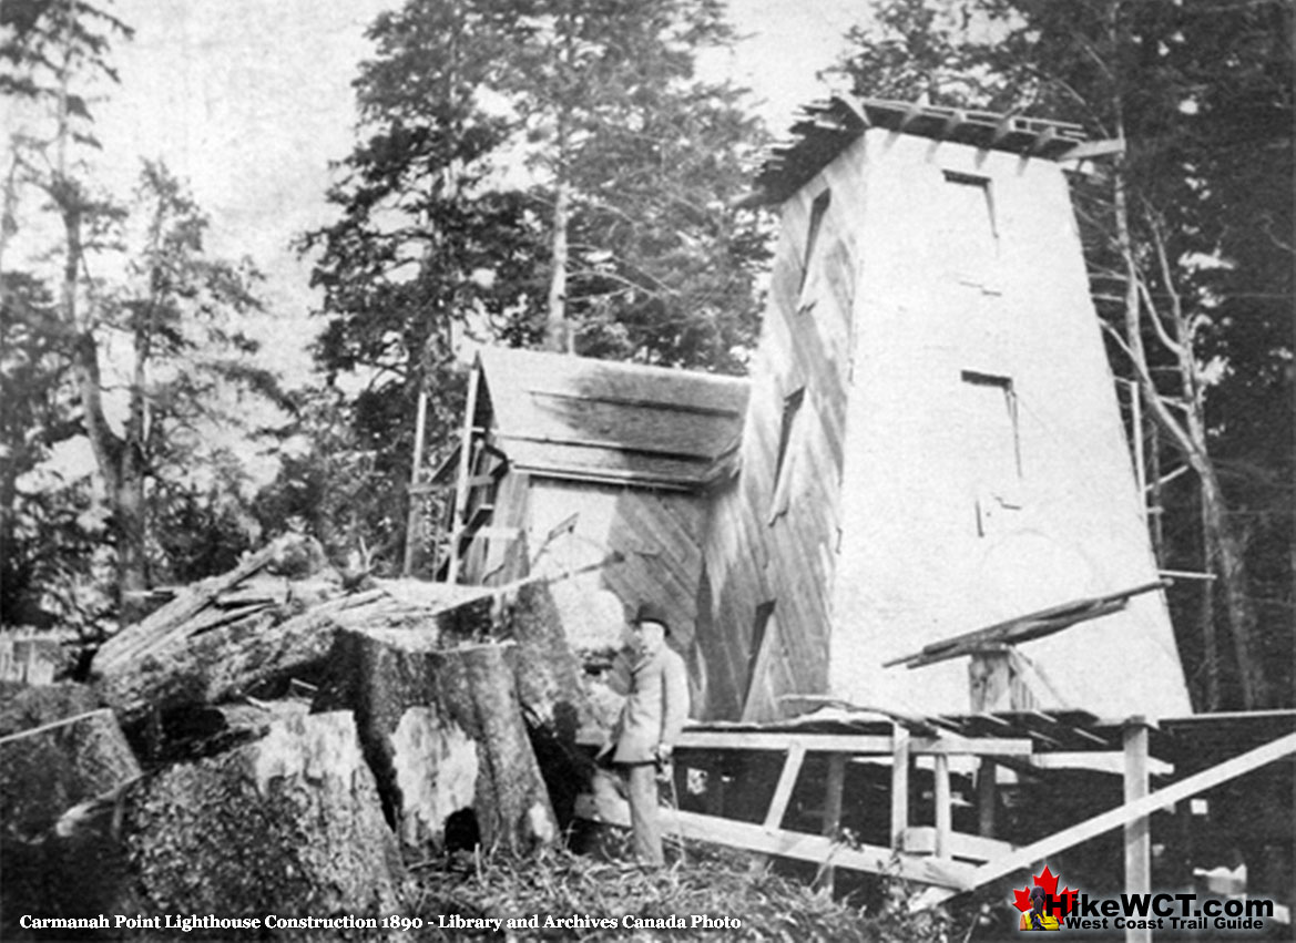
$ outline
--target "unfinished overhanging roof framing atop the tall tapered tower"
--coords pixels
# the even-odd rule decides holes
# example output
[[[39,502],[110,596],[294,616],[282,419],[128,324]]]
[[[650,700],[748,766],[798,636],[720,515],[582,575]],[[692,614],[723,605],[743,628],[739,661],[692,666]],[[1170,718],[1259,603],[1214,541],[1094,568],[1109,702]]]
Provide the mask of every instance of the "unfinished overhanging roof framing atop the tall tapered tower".
[[[750,202],[783,202],[868,128],[1052,161],[1085,142],[1078,124],[885,98],[835,96],[801,113],[792,140],[770,149]]]

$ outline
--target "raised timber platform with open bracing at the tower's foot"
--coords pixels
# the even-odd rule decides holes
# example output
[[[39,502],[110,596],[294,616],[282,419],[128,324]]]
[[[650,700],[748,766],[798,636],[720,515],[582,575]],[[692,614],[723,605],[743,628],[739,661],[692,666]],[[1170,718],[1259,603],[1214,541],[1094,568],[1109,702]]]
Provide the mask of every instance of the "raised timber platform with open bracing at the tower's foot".
[[[915,907],[932,907],[1032,865],[1116,828],[1125,830],[1126,890],[1151,890],[1148,816],[1277,760],[1296,755],[1296,711],[1192,715],[1150,721],[1111,720],[1086,711],[1001,711],[993,714],[914,716],[858,707],[826,707],[778,724],[710,723],[688,728],[677,746],[679,763],[705,767],[726,755],[759,751],[781,756],[780,772],[763,821],[736,821],[678,808],[665,812],[665,826],[684,838],[818,863],[823,869],[850,868],[901,877],[927,886]],[[1048,754],[1116,754],[1124,771],[1122,804],[1069,825],[1026,847],[953,828],[951,758],[977,766],[978,801],[995,806],[995,764],[1029,768]],[[827,755],[823,828],[819,834],[785,828],[793,791],[806,758]],[[915,825],[910,815],[910,776],[918,758],[928,758],[934,797],[934,826]],[[1151,791],[1150,759],[1194,772]],[[1192,758],[1186,763],[1185,758]],[[868,760],[890,766],[890,845],[839,841],[845,768]],[[775,762],[779,762],[775,759]],[[1083,764],[1083,756],[1078,766]],[[1178,768],[1177,768],[1178,772]],[[924,771],[925,773],[925,771]],[[1182,776],[1182,773],[1179,773]],[[804,786],[805,784],[802,784]],[[608,794],[582,797],[578,815],[629,825],[625,803]],[[993,817],[981,815],[982,832]],[[1146,939],[1131,931],[1128,939]]]

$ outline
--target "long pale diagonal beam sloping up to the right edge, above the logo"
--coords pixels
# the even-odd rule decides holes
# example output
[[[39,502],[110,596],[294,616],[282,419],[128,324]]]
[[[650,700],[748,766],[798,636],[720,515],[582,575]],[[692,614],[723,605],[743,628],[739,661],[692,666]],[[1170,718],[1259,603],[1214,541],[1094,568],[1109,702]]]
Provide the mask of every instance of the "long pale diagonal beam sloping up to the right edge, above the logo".
[[[1087,842],[1090,838],[1096,838],[1105,832],[1111,832],[1115,828],[1120,828],[1128,821],[1146,817],[1148,813],[1155,812],[1159,808],[1173,806],[1174,803],[1187,799],[1191,795],[1204,793],[1208,789],[1214,789],[1223,782],[1235,780],[1239,776],[1244,776],[1253,769],[1258,769],[1262,766],[1291,756],[1292,754],[1296,754],[1296,733],[1288,733],[1287,736],[1270,741],[1264,746],[1257,746],[1255,750],[1248,750],[1240,756],[1234,756],[1223,763],[1217,763],[1213,767],[1188,776],[1186,780],[1181,780],[1174,785],[1159,789],[1150,795],[1144,795],[1142,799],[1135,799],[1134,802],[1117,806],[1113,810],[1095,815],[1091,819],[1086,819],[1085,821],[1072,825],[1068,829],[1063,829],[1061,832],[1056,832],[1046,838],[1041,838],[1038,842],[1032,842],[1025,847],[1017,848],[1011,855],[1004,855],[1003,858],[989,861],[976,869],[973,874],[975,883],[967,890],[980,887],[1011,872],[1029,868],[1032,864],[1047,859],[1059,851],[1064,851],[1069,847],[1080,845],[1081,842]],[[958,891],[938,889],[924,891],[914,899],[911,908],[914,911],[920,911],[927,907],[934,907],[943,900],[949,900],[956,892]]]

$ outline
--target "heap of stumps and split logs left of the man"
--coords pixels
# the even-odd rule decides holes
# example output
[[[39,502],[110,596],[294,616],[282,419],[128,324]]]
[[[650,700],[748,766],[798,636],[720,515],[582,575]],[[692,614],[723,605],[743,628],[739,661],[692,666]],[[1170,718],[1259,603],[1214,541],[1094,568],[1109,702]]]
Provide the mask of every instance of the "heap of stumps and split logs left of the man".
[[[393,913],[403,858],[547,845],[587,775],[581,675],[543,582],[356,585],[281,539],[109,640],[89,684],[0,703],[0,935]]]

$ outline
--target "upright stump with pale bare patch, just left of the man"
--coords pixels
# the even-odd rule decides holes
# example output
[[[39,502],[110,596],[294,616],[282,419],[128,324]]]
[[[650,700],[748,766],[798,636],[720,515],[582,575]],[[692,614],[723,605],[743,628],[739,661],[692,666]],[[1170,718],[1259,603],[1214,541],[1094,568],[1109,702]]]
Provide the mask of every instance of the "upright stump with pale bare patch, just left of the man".
[[[464,811],[490,848],[557,835],[498,644],[438,649],[441,632],[340,632],[316,709],[354,711],[384,811],[408,845],[443,847]],[[470,830],[469,830],[470,832]]]

